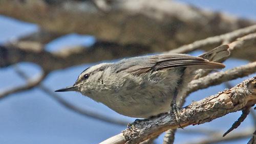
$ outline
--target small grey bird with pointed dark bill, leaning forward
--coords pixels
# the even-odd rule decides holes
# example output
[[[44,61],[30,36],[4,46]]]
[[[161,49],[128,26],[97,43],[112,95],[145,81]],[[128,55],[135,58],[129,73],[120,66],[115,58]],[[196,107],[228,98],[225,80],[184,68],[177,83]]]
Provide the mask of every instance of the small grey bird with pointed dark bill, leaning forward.
[[[222,45],[198,57],[166,53],[101,63],[55,92],[80,92],[124,116],[150,118],[168,112],[199,69],[224,68],[216,61],[228,55],[228,45]]]

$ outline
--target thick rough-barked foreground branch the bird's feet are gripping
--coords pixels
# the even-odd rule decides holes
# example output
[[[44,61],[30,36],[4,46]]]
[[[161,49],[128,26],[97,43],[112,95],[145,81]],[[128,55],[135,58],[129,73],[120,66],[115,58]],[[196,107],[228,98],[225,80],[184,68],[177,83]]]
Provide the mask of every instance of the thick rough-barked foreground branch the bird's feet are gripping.
[[[198,125],[210,122],[225,116],[230,112],[236,112],[246,106],[256,103],[256,77],[247,79],[236,87],[220,92],[214,96],[207,97],[198,102],[181,109],[180,125]],[[162,114],[159,117],[134,122],[121,134],[111,137],[106,143],[139,143],[148,138],[159,135],[168,129],[179,127],[174,114]]]

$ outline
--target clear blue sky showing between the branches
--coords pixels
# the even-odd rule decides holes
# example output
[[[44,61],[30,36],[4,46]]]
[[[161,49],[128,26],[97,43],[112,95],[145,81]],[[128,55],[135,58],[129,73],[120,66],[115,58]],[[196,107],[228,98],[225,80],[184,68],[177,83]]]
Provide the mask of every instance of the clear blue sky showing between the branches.
[[[256,20],[255,1],[184,0],[182,2]],[[0,43],[6,43],[15,40],[18,36],[35,32],[37,28],[37,25],[32,23],[20,22],[5,16],[0,16]],[[91,45],[93,42],[94,38],[91,36],[70,34],[49,43],[47,50],[56,51],[70,45]],[[197,55],[199,53],[200,51],[191,54]],[[225,69],[247,63],[246,61],[230,59],[225,62]],[[52,91],[66,87],[67,85],[73,84],[81,71],[94,64],[85,64],[54,71],[47,77],[43,84],[47,85]],[[20,63],[18,66],[30,76],[36,76],[40,72],[40,67],[31,63]],[[231,83],[235,85],[246,78],[248,77],[232,80]],[[0,69],[0,79],[0,92],[26,83],[15,74],[12,66]],[[188,97],[186,104],[215,94],[223,89],[225,89],[224,85],[218,85],[209,89],[200,90]],[[134,120],[133,118],[121,116],[103,104],[96,103],[78,93],[67,92],[61,93],[60,95],[77,106],[90,109],[97,113],[131,122]],[[59,105],[55,100],[37,88],[31,91],[13,94],[1,100],[0,109],[0,143],[98,143],[120,133],[120,131],[125,128],[125,126],[104,123],[74,113]],[[221,119],[199,126],[189,126],[189,128],[206,127],[225,131],[237,120],[240,114],[241,112],[230,113]],[[250,125],[252,125],[252,121],[248,118],[242,123],[239,129],[242,130]],[[176,142],[182,142],[184,136],[187,137],[186,139],[193,140],[200,138],[202,135],[178,133]],[[158,143],[162,142],[162,137],[163,135],[157,139]],[[238,141],[237,143],[246,143],[246,141],[247,139]]]

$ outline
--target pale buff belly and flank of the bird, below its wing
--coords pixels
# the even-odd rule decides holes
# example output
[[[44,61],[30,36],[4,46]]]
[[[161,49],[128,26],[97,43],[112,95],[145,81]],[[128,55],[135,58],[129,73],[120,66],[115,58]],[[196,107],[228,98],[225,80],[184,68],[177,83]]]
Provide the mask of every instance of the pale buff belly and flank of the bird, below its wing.
[[[170,109],[179,83],[179,73],[171,73],[172,71],[168,71],[156,77],[117,83],[116,87],[92,94],[91,98],[124,116],[150,118]]]

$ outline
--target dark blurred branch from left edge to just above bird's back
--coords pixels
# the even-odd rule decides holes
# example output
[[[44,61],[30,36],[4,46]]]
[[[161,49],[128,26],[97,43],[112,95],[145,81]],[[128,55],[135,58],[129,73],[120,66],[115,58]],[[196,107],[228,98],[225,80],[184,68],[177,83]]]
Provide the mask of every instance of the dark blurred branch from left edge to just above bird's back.
[[[111,42],[96,42],[91,47],[62,49],[56,53],[45,51],[44,48],[40,47],[39,43],[37,45],[38,48],[34,47],[35,45],[26,47],[24,45],[26,46],[26,43],[0,45],[0,67],[6,67],[18,62],[32,62],[50,72],[84,63],[119,59],[149,52],[149,49],[145,46],[136,44],[119,45]]]

